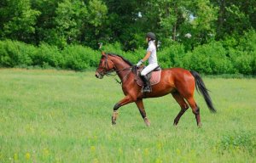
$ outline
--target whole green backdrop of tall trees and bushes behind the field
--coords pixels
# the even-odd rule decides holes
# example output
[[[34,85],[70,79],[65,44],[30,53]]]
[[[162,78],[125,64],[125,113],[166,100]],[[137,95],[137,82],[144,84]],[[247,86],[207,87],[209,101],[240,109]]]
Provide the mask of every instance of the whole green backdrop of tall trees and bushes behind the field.
[[[86,70],[104,50],[136,63],[145,33],[163,67],[255,75],[255,0],[1,0],[0,66]]]

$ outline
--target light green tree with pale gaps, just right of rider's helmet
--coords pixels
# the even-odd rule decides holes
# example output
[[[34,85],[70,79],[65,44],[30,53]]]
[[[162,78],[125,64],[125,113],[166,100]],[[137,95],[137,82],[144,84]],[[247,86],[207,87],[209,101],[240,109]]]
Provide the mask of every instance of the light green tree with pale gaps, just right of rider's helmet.
[[[160,20],[160,35],[167,45],[182,42],[187,50],[207,43],[215,34],[218,8],[209,0],[166,0],[155,3]]]

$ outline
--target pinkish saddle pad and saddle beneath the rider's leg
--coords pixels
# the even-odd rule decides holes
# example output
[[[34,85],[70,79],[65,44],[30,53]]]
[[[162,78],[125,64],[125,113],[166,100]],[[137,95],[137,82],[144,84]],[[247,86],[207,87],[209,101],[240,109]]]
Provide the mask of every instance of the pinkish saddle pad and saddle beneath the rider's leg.
[[[137,85],[143,87],[144,83],[143,80],[141,78],[141,71],[144,69],[144,67],[140,67],[139,69],[136,70],[136,81],[137,81]],[[161,78],[161,68],[160,65],[157,66],[154,70],[152,70],[151,72],[149,72],[147,74],[147,77],[149,79],[150,82],[150,86],[153,86],[155,84],[158,84],[160,82],[160,78]]]

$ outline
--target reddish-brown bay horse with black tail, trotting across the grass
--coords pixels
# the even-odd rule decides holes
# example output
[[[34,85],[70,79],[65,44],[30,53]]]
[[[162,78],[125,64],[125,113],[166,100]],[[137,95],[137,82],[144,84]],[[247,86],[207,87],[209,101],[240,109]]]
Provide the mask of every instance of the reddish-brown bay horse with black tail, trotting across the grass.
[[[203,95],[208,109],[213,113],[216,112],[207,87],[196,71],[184,70],[182,68],[163,69],[161,70],[160,82],[152,86],[152,92],[142,93],[142,87],[137,85],[135,81],[135,67],[136,65],[132,65],[129,60],[124,59],[120,55],[102,52],[102,58],[96,69],[96,77],[102,79],[103,76],[108,76],[111,72],[116,72],[121,80],[122,89],[125,94],[125,98],[122,98],[113,106],[113,125],[116,124],[118,110],[121,106],[136,103],[144,122],[147,126],[150,126],[150,121],[144,109],[143,98],[157,98],[171,93],[172,97],[175,98],[181,107],[177,117],[174,119],[173,125],[177,126],[180,117],[190,106],[195,115],[197,126],[201,127],[200,108],[194,99],[195,87]]]

